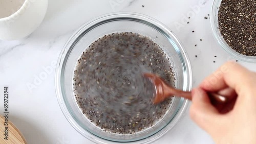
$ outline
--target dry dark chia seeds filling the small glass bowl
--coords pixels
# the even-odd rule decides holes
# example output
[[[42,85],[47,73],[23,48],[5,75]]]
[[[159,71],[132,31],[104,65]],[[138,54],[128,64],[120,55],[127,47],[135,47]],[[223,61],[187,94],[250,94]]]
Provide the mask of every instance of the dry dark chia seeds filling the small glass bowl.
[[[221,35],[233,50],[256,56],[255,0],[223,0],[218,23]]]

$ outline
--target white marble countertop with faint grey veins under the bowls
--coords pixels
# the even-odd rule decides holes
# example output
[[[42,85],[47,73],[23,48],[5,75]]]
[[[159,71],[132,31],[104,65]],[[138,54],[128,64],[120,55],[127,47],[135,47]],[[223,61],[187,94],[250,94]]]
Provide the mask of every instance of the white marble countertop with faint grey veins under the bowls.
[[[212,0],[204,1],[205,5],[198,13],[190,13],[191,7],[199,6],[199,0],[50,0],[45,19],[33,34],[16,41],[0,40],[0,95],[3,97],[3,87],[9,86],[10,120],[22,131],[28,143],[92,143],[79,134],[62,114],[55,94],[54,68],[32,90],[27,84],[33,84],[35,77],[45,71],[44,67],[57,61],[65,42],[83,23],[115,11],[146,14],[176,33],[190,57],[193,86],[197,86],[229,57],[214,40],[210,20],[204,19],[210,13]],[[177,29],[175,23],[182,23],[182,17],[188,13],[191,14],[189,24],[185,23]],[[195,33],[192,33],[193,30]],[[256,70],[255,64],[240,63]],[[3,98],[0,101],[3,105]],[[187,111],[177,126],[155,143],[214,142],[191,121]]]

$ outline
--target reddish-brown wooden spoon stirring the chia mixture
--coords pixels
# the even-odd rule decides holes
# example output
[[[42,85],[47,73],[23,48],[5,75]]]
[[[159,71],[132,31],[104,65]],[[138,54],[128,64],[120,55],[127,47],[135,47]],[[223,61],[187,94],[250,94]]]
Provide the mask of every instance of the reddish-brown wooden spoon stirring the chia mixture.
[[[145,78],[149,78],[156,88],[156,95],[154,98],[154,104],[158,104],[163,102],[165,99],[169,97],[173,97],[174,95],[183,97],[185,99],[191,100],[191,92],[190,91],[182,91],[176,89],[164,82],[160,77],[154,74],[145,73]],[[227,103],[228,99],[216,93],[207,93],[209,95],[210,101],[213,105]]]

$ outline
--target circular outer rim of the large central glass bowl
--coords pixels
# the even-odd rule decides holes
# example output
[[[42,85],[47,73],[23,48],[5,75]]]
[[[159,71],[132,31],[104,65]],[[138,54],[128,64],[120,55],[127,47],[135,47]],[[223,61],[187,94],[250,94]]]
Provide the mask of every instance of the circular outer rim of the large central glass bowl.
[[[103,139],[101,137],[98,137],[94,134],[91,134],[90,132],[88,132],[87,130],[84,130],[81,126],[79,126],[79,124],[77,124],[77,122],[74,120],[74,118],[72,117],[71,113],[69,112],[66,104],[65,104],[65,100],[63,99],[62,96],[62,86],[61,86],[61,71],[63,70],[63,61],[67,56],[68,50],[70,49],[70,44],[71,42],[73,43],[73,40],[75,40],[74,38],[76,36],[79,36],[79,32],[83,31],[83,30],[87,30],[89,28],[90,25],[92,25],[92,23],[95,23],[96,21],[100,21],[102,18],[106,18],[109,16],[120,16],[120,15],[125,15],[125,16],[137,16],[137,17],[143,17],[146,18],[148,20],[154,21],[156,22],[158,25],[161,26],[161,29],[164,29],[168,32],[169,35],[172,36],[172,38],[174,38],[175,42],[177,42],[176,44],[180,47],[180,52],[182,54],[182,58],[184,59],[184,63],[183,63],[183,67],[186,73],[186,75],[184,76],[184,79],[187,80],[187,83],[184,83],[183,88],[186,87],[186,90],[191,90],[192,87],[192,71],[191,71],[191,65],[190,65],[190,61],[188,58],[188,55],[185,52],[184,46],[182,45],[182,43],[178,40],[177,36],[172,32],[169,31],[168,28],[166,26],[164,26],[160,21],[140,14],[140,13],[133,13],[133,12],[115,12],[115,13],[109,13],[109,14],[105,14],[102,16],[99,16],[97,18],[94,18],[93,20],[85,23],[84,25],[82,25],[75,33],[72,34],[72,36],[69,38],[69,40],[66,42],[66,44],[63,46],[62,51],[60,52],[60,56],[58,58],[58,62],[57,62],[57,67],[56,67],[56,71],[55,71],[55,89],[56,89],[56,95],[57,95],[57,100],[59,103],[59,106],[61,108],[61,111],[63,112],[63,114],[65,115],[66,119],[68,120],[68,122],[76,129],[76,131],[78,131],[80,134],[82,134],[84,137],[86,137],[87,139],[93,141],[93,142],[99,142],[99,143],[105,143],[105,142],[112,142],[112,143],[117,143],[115,141],[110,141],[108,139]],[[79,34],[79,35],[78,35]],[[69,46],[69,47],[68,47]],[[181,103],[182,102],[182,103]],[[181,100],[181,105],[178,109],[178,111],[176,112],[176,114],[174,115],[172,121],[170,121],[163,129],[161,129],[160,131],[158,131],[156,134],[153,134],[152,136],[145,138],[145,139],[141,139],[138,141],[132,141],[132,142],[125,142],[125,143],[151,143],[153,141],[158,140],[160,137],[162,137],[165,133],[167,133],[172,127],[174,127],[176,125],[176,123],[178,122],[178,120],[183,116],[183,114],[185,113],[187,106],[189,105],[189,101],[182,99]],[[171,123],[172,122],[172,123]],[[172,124],[172,125],[170,125]],[[81,131],[81,129],[83,131]],[[159,135],[157,135],[158,133],[160,133]]]

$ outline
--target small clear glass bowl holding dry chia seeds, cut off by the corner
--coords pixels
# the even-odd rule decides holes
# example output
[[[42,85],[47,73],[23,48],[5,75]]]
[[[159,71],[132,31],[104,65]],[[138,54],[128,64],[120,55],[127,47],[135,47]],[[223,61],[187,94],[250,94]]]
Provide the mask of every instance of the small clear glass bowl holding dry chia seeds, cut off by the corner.
[[[218,13],[219,13],[221,2],[222,0],[215,0],[214,3],[212,4],[211,13],[210,13],[211,29],[216,41],[218,41],[218,43],[223,47],[223,49],[235,59],[245,61],[245,62],[251,62],[251,63],[256,62],[256,57],[245,56],[234,51],[222,37],[221,32],[219,30],[219,24],[218,24]]]

